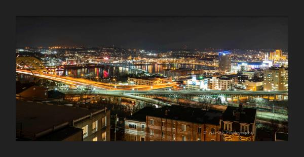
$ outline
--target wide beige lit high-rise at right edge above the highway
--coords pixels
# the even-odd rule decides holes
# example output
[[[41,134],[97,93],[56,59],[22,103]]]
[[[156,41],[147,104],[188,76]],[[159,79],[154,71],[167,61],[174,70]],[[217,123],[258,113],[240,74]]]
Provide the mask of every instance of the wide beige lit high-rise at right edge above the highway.
[[[274,67],[264,69],[264,91],[288,90],[288,69]]]

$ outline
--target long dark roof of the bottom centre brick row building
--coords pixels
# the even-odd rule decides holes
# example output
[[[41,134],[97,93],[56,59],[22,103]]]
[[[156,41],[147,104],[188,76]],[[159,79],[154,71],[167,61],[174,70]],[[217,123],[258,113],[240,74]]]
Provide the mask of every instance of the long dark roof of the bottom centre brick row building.
[[[166,119],[173,119],[179,121],[193,122],[193,123],[208,123],[219,124],[219,119],[222,116],[222,111],[208,110],[205,111],[200,108],[182,107],[182,106],[166,106],[163,108],[144,107],[129,120],[136,120],[145,122],[146,116],[162,117]]]

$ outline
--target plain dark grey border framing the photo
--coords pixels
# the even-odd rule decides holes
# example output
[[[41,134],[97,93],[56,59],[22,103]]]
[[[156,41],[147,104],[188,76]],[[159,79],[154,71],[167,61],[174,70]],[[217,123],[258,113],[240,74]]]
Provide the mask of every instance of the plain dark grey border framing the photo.
[[[2,144],[10,155],[288,155],[302,139],[300,98],[302,8],[287,1],[7,1],[2,18]],[[15,141],[15,19],[16,16],[259,16],[288,17],[289,141],[288,142],[16,142]],[[298,60],[298,61],[297,61]],[[297,69],[298,68],[298,69]],[[293,73],[292,73],[293,72]],[[13,122],[12,122],[13,121]],[[197,153],[197,154],[196,154]]]

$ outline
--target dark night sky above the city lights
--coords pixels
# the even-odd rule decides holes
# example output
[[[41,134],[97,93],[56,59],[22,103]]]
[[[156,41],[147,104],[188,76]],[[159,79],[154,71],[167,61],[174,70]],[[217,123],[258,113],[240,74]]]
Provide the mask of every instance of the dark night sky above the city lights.
[[[17,17],[17,47],[287,49],[287,18]]]

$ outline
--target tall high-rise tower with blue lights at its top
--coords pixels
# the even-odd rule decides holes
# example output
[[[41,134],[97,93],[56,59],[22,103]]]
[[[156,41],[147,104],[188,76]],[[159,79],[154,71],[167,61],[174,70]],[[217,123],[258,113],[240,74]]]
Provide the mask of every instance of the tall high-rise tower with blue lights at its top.
[[[221,73],[231,72],[231,53],[228,51],[223,51],[218,53],[218,68]]]

